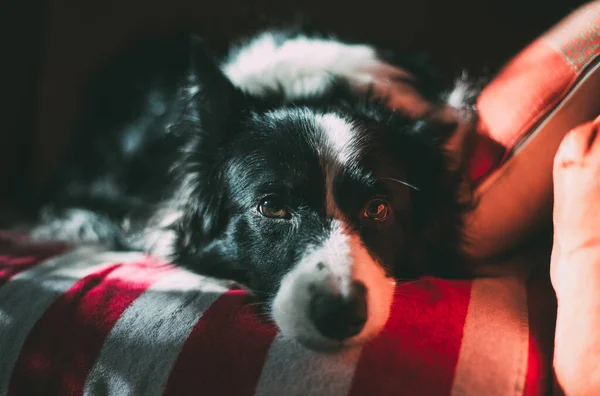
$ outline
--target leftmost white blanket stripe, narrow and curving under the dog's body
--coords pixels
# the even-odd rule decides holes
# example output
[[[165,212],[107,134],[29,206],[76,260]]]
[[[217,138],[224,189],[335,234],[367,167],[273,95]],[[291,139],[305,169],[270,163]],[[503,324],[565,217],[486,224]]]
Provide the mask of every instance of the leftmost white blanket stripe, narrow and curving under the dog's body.
[[[79,279],[113,263],[143,257],[92,246],[40,263],[0,287],[0,395],[10,378],[27,336],[52,303]]]

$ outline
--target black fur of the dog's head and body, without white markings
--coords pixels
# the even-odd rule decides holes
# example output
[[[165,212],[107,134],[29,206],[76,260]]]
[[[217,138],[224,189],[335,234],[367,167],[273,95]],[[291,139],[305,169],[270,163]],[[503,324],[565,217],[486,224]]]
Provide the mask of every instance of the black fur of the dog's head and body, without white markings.
[[[421,72],[420,87],[441,103],[442,85],[427,76]],[[188,35],[140,43],[94,78],[63,171],[42,197],[38,231],[66,227],[70,209],[87,210],[103,225],[95,239],[272,295],[330,221],[328,164],[318,153],[326,143],[315,124],[325,113],[361,134],[333,192],[369,251],[398,278],[460,274],[462,175],[448,170],[442,148],[455,125],[390,111],[343,78],[294,101],[277,89],[253,97]],[[361,220],[373,196],[389,200],[392,222]],[[281,201],[291,219],[257,214],[266,197]]]

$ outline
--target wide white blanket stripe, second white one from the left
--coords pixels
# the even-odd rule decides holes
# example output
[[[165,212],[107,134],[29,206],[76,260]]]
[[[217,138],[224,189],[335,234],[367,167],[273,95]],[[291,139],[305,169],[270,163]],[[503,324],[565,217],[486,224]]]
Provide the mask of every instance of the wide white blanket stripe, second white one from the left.
[[[84,394],[161,395],[194,325],[226,290],[184,270],[154,283],[108,335]]]

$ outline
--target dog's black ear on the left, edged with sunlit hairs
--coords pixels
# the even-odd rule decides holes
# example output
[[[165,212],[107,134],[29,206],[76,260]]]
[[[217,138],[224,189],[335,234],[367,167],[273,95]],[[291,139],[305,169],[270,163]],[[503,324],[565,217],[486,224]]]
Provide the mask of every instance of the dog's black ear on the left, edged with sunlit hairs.
[[[225,225],[221,175],[229,142],[241,130],[246,99],[201,39],[189,36],[182,45],[187,45],[189,63],[181,94],[187,96],[182,117],[169,132],[177,142],[169,205],[174,203],[179,213],[176,249],[189,255]]]

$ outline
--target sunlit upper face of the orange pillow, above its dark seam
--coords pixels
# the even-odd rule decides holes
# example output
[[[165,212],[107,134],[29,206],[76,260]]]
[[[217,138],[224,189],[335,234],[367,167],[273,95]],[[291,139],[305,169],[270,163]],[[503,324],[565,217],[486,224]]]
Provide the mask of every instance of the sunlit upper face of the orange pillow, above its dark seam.
[[[486,87],[478,101],[482,131],[510,153],[598,54],[600,2],[594,1],[533,41]]]

